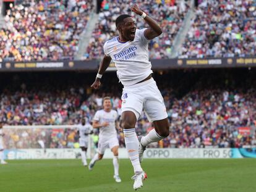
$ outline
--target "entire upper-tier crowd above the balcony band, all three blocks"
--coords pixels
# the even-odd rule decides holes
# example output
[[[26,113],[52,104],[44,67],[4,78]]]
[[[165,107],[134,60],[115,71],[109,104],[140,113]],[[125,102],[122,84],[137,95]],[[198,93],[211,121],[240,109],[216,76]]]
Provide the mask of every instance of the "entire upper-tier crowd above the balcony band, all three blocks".
[[[1,61],[46,61],[74,59],[79,35],[86,27],[93,1],[21,1],[11,4],[0,30]],[[252,0],[199,1],[179,57],[244,57],[256,53],[256,3]],[[104,0],[92,38],[82,59],[100,59],[103,44],[117,35],[115,19],[134,3]],[[163,29],[149,43],[151,59],[166,59],[190,7],[186,1],[136,1]],[[135,16],[137,28],[147,27]]]

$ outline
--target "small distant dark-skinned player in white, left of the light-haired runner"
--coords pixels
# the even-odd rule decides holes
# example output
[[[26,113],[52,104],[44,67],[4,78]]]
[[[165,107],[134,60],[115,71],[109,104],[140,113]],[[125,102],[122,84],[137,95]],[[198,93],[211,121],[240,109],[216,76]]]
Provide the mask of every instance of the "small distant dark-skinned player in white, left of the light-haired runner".
[[[86,123],[85,119],[82,119],[81,124],[79,125],[79,145],[82,149],[81,157],[82,163],[84,166],[87,166],[87,148],[88,148],[88,137],[93,133],[93,127],[89,123]]]

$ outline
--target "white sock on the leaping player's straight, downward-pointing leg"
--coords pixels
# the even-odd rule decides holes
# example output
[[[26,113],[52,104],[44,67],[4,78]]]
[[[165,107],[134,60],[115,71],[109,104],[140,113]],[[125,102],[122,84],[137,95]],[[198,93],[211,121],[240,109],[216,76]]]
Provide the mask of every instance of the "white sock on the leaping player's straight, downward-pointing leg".
[[[139,140],[135,128],[124,129],[124,141],[126,142],[126,149],[134,167],[134,172],[142,172],[139,161]]]

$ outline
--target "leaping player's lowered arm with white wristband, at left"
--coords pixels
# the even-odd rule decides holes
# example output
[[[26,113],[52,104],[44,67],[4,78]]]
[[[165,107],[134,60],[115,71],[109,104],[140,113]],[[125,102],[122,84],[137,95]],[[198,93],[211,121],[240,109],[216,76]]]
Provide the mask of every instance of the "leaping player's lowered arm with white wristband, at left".
[[[103,59],[100,62],[100,67],[99,67],[99,70],[98,70],[98,74],[96,75],[95,81],[91,85],[91,87],[94,88],[95,90],[98,90],[98,88],[100,88],[101,77],[102,77],[103,73],[105,73],[105,71],[108,68],[110,62],[111,62],[111,57],[104,55]]]

